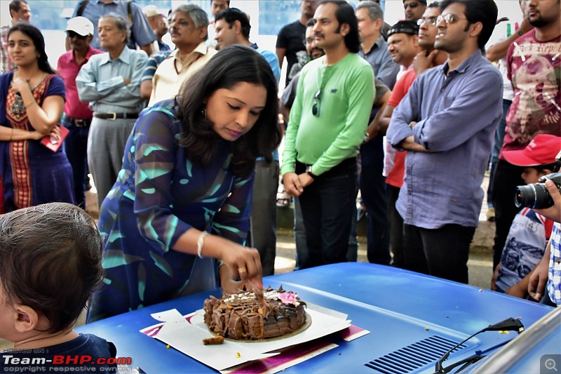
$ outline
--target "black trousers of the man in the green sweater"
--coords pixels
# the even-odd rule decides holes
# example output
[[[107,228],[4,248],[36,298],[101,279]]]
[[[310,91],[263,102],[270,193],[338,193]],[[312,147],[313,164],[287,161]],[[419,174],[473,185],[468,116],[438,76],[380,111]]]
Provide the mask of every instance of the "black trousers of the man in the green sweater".
[[[296,173],[306,166],[297,162]],[[308,256],[298,255],[300,269],[346,262],[356,196],[356,159],[346,159],[316,177],[299,196]]]

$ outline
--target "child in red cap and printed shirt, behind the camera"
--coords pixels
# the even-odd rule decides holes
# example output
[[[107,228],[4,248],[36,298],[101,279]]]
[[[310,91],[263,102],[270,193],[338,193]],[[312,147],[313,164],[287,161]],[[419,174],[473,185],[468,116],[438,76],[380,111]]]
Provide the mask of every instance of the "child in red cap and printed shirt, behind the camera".
[[[509,163],[523,168],[522,180],[531,185],[559,169],[560,163],[555,160],[559,152],[560,137],[539,134],[525,149],[505,151],[503,156]],[[552,227],[553,220],[527,207],[515,215],[501,262],[494,271],[492,290],[519,298],[527,296],[530,273],[543,258]]]

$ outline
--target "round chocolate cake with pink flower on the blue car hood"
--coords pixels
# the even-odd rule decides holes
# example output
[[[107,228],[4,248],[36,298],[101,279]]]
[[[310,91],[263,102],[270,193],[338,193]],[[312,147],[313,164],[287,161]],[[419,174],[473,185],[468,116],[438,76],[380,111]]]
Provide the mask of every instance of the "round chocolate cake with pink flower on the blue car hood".
[[[210,296],[204,305],[205,323],[214,333],[236,340],[274,338],[306,323],[306,303],[297,294],[281,286],[278,290],[269,287],[259,296],[252,292],[221,299]]]

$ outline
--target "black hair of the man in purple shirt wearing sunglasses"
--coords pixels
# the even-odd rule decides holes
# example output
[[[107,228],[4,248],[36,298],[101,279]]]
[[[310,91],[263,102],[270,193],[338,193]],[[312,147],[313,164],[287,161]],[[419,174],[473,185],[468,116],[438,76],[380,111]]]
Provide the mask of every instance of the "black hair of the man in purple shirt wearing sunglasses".
[[[438,3],[440,13],[442,13],[447,6],[454,3],[464,4],[466,6],[464,14],[468,20],[468,25],[465,31],[468,30],[470,25],[481,22],[482,29],[478,35],[478,47],[481,51],[484,51],[485,44],[487,44],[491,34],[493,34],[496,25],[496,16],[499,14],[499,9],[496,8],[495,2],[493,0],[444,0]]]

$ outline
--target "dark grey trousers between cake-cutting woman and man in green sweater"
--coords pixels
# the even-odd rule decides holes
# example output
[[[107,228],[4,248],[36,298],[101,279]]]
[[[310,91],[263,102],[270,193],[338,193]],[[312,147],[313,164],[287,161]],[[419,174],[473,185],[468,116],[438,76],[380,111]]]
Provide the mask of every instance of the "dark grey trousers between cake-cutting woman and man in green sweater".
[[[255,168],[250,246],[259,251],[263,275],[267,276],[275,272],[278,161],[257,161]]]

